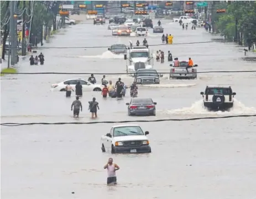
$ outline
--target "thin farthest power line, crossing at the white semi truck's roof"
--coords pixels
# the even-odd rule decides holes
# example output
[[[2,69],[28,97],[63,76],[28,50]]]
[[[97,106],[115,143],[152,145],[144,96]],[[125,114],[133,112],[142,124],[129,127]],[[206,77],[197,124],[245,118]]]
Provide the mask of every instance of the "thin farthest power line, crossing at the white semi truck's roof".
[[[199,42],[190,42],[190,43],[176,43],[176,44],[153,44],[148,46],[161,46],[161,45],[187,45],[187,44],[205,44],[205,43],[229,43],[230,41],[199,41]],[[130,46],[128,44],[127,46]],[[44,48],[38,48],[38,49],[80,49],[80,48],[109,48],[109,46],[73,46],[73,47],[44,47]]]

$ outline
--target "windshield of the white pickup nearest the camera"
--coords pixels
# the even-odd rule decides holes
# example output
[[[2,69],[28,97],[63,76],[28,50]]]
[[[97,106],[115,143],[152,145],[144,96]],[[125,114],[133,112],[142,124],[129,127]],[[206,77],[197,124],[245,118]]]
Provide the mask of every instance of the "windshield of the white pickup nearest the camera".
[[[142,129],[138,126],[116,127],[114,128],[113,137],[126,135],[144,135]]]

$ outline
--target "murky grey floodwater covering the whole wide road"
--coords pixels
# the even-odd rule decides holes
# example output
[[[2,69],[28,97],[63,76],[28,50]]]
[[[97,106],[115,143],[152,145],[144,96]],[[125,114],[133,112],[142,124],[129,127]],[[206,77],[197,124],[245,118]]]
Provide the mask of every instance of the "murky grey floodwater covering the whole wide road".
[[[211,41],[203,29],[183,30],[163,20],[165,34],[175,43]],[[156,24],[156,22],[154,22]],[[161,34],[149,29],[149,45],[160,44]],[[129,44],[143,37],[111,36],[106,25],[77,24],[56,35],[49,47],[81,46],[77,49],[43,49],[44,66],[19,65],[19,72],[126,72],[123,55],[107,51],[112,44]],[[86,48],[106,46],[106,48]],[[171,51],[173,57],[191,57],[198,71],[255,70],[255,62],[243,61],[243,51],[227,43],[151,46],[151,51]],[[38,51],[40,53],[40,50]],[[250,56],[250,55],[249,55]],[[160,72],[169,63],[154,62]],[[160,85],[140,86],[139,97],[157,102],[156,117],[128,117],[126,102],[107,98],[100,92],[83,92],[83,112],[72,118],[74,100],[64,92],[51,92],[53,83],[90,75],[13,75],[1,77],[1,123],[91,122],[87,103],[96,97],[100,110],[97,121],[153,120],[255,114],[255,73],[198,74],[197,80],[168,80]],[[98,82],[102,75],[95,75]],[[133,78],[118,77],[129,85]],[[13,79],[10,79],[13,78]],[[207,112],[200,92],[206,85],[230,85],[235,96],[230,112]],[[231,118],[185,122],[139,123],[148,135],[152,153],[144,155],[103,154],[101,135],[112,124],[33,125],[1,127],[3,198],[254,198],[256,195],[255,118]],[[164,127],[164,128],[163,128]],[[163,130],[164,129],[164,130]],[[121,169],[118,185],[106,186],[103,165],[112,156]],[[71,192],[75,192],[71,194]]]

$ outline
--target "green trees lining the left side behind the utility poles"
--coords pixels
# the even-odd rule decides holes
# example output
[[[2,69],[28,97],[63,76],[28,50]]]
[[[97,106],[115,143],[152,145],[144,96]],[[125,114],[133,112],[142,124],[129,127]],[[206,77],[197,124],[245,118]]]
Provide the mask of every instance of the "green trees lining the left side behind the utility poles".
[[[56,23],[58,23],[56,16],[59,13],[60,3],[61,1],[16,1],[14,13],[17,15],[17,20],[22,20],[23,13],[25,13],[23,23],[30,28],[29,43],[37,45],[43,42],[43,26],[46,28],[46,35],[51,27],[56,30]],[[2,59],[6,53],[6,41],[10,32],[9,17],[10,1],[1,1]]]

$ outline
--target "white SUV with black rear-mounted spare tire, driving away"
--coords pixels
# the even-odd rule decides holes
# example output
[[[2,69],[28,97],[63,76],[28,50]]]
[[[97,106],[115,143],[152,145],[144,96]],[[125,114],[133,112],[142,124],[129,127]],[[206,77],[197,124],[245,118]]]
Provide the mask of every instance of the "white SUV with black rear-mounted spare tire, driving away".
[[[203,97],[203,106],[209,111],[228,111],[233,107],[235,92],[231,86],[206,86]]]

